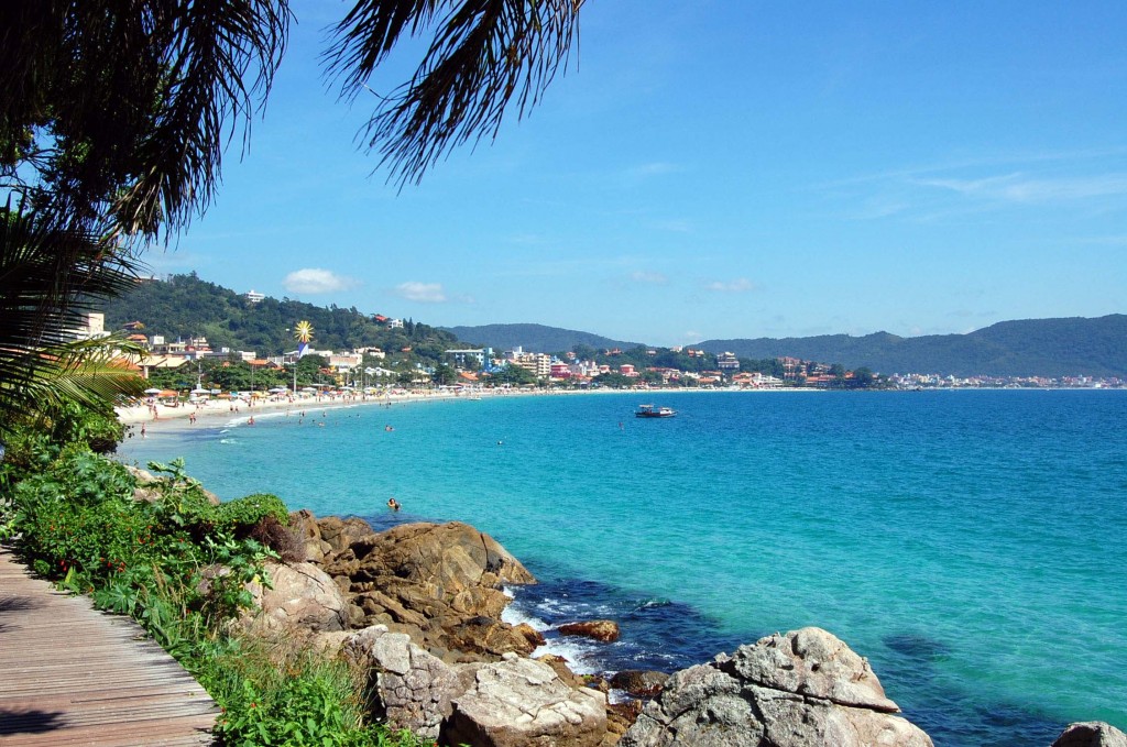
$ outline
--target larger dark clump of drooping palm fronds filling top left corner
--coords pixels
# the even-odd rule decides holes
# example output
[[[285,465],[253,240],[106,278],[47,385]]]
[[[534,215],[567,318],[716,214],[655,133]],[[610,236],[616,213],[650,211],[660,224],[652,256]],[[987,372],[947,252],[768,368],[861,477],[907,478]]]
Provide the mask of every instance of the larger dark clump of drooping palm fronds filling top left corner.
[[[2,2],[0,166],[30,164],[42,135],[25,190],[38,208],[175,233],[206,208],[240,123],[246,146],[289,21],[286,0]]]

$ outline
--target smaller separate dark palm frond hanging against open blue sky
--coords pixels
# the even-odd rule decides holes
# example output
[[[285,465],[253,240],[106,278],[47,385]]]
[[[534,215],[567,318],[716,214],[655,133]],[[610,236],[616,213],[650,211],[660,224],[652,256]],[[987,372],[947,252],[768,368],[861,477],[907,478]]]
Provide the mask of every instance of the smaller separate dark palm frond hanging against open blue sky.
[[[376,108],[369,150],[400,185],[417,183],[455,145],[494,137],[511,100],[517,117],[539,103],[570,52],[583,0],[360,0],[327,54],[341,96],[355,98],[399,38],[437,23],[411,80]],[[440,9],[446,8],[438,20]]]

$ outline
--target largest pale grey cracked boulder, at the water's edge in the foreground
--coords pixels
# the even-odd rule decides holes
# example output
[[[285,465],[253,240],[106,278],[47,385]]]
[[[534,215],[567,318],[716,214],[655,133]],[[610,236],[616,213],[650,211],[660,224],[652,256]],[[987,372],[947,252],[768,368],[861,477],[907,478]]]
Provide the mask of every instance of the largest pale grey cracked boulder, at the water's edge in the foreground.
[[[817,628],[771,635],[669,678],[622,747],[931,747],[869,662]]]

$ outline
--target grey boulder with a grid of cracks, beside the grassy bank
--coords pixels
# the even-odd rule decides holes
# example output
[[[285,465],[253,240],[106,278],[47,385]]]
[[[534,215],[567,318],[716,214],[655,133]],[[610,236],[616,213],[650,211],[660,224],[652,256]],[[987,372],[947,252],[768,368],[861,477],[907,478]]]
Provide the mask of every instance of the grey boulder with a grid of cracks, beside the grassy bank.
[[[373,625],[345,639],[341,655],[367,672],[372,710],[393,729],[437,739],[460,692],[458,674],[411,643],[410,637]]]

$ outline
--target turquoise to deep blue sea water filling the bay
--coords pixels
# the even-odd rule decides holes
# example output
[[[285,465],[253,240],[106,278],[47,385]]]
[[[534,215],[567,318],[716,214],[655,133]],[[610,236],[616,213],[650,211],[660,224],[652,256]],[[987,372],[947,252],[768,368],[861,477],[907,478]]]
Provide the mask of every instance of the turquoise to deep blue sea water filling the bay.
[[[625,621],[579,652],[596,668],[816,624],[937,745],[1127,728],[1127,392],[669,393],[667,420],[641,401],[310,408],[123,454],[183,454],[224,498],[385,523],[393,495],[394,521],[473,524],[549,581],[525,614]]]

